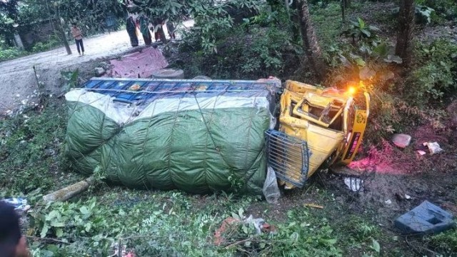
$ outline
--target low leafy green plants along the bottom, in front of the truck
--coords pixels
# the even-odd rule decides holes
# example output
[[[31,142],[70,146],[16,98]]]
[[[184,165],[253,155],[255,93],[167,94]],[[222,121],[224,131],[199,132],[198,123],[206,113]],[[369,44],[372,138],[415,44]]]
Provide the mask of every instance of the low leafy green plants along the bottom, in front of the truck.
[[[49,203],[30,216],[29,235],[43,238],[34,241],[33,252],[109,256],[120,243],[137,256],[342,256],[326,218],[298,209],[288,211],[287,221],[276,224],[275,233],[258,235],[252,225],[239,223],[222,233],[224,241],[216,246],[211,235],[224,218],[241,220],[246,206],[256,202],[251,197],[219,197],[206,197],[211,204],[200,206],[201,198],[176,191],[117,191],[73,203]]]

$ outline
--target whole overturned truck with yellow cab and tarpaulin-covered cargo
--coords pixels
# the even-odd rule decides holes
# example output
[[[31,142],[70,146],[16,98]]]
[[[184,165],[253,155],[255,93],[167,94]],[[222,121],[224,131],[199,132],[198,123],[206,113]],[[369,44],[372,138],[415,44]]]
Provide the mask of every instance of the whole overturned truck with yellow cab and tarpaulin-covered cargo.
[[[348,163],[368,117],[353,96],[278,79],[91,79],[66,94],[66,154],[131,188],[261,193]],[[279,100],[281,98],[281,100]],[[279,122],[277,122],[279,118]]]

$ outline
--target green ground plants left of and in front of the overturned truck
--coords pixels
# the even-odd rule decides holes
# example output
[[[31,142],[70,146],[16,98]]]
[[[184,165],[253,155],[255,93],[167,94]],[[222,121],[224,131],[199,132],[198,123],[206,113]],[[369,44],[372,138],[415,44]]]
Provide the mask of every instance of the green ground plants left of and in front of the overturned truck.
[[[371,248],[380,234],[376,225],[351,216],[341,226],[341,220],[332,218],[333,211],[341,212],[336,203],[319,210],[292,201],[278,209],[256,196],[195,196],[102,183],[72,201],[46,205],[42,195],[82,179],[71,171],[63,152],[66,106],[59,99],[50,100],[44,109],[0,121],[0,195],[24,196],[31,203],[24,231],[34,256],[107,256],[119,242],[137,256],[377,253]],[[333,201],[322,189],[311,192],[317,202]],[[276,226],[277,233],[257,235],[252,226],[240,225],[224,234],[221,246],[214,244],[214,232],[225,218],[251,213]]]

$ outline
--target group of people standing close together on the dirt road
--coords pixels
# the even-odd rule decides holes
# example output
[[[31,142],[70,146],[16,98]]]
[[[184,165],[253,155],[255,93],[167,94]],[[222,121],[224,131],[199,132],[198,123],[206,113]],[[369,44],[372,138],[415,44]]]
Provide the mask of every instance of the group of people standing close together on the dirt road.
[[[164,21],[156,20],[153,24],[144,15],[141,15],[138,18],[134,18],[134,16],[129,16],[129,18],[127,18],[126,29],[127,29],[127,33],[129,33],[131,46],[135,47],[135,46],[139,45],[138,35],[136,34],[137,28],[139,28],[141,36],[143,36],[144,44],[146,44],[146,46],[151,46],[151,44],[152,44],[151,31],[154,31],[154,40],[160,41],[161,35],[159,33],[159,29],[161,29],[165,24],[169,31],[170,38],[175,39],[175,34],[174,34],[175,26],[174,26],[173,21],[168,20],[168,21],[164,22]]]

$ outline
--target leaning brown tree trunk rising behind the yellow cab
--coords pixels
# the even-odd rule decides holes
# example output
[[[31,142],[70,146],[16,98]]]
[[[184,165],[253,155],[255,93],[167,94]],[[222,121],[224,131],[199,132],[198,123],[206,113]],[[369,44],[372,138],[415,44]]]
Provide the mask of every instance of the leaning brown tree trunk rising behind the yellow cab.
[[[323,79],[326,74],[326,65],[323,62],[321,48],[319,47],[313,24],[311,24],[308,1],[301,0],[300,4],[301,6],[298,13],[300,15],[303,50],[305,51],[311,69],[313,69],[319,79]]]

